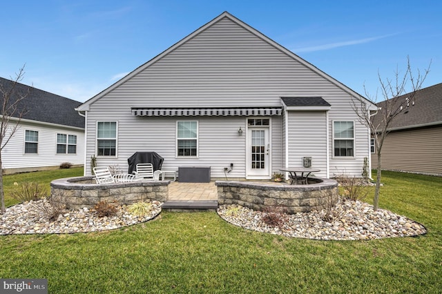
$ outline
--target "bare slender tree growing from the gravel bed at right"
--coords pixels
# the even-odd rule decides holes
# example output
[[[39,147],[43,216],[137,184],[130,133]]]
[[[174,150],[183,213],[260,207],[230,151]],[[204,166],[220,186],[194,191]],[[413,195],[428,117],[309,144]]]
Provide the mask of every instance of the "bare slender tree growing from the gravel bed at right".
[[[376,188],[374,190],[373,206],[374,210],[378,209],[379,204],[379,192],[381,190],[381,172],[382,172],[382,146],[384,144],[385,137],[390,132],[392,123],[396,117],[406,110],[408,105],[414,103],[416,92],[421,89],[423,81],[425,81],[428,72],[430,72],[430,64],[424,72],[417,70],[417,75],[414,75],[410,66],[410,58],[407,57],[407,68],[403,74],[401,74],[396,68],[394,72],[394,79],[382,79],[378,74],[378,80],[381,85],[381,92],[383,101],[378,104],[378,110],[372,112],[363,104],[362,101],[358,102],[356,99],[352,100],[352,108],[356,115],[358,115],[361,124],[367,126],[374,139],[374,146],[376,148],[377,155],[377,173],[376,173]],[[365,96],[369,101],[376,104],[378,101],[378,92],[374,97],[370,97],[369,92],[364,86]]]

